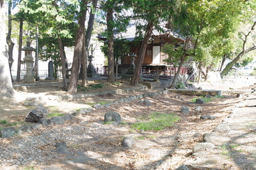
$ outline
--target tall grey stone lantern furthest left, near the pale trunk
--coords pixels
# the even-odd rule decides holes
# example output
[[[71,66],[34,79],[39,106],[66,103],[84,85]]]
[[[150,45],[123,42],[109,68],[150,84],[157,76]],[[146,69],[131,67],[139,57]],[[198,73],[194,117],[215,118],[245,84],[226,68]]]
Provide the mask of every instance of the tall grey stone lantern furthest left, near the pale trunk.
[[[35,51],[35,48],[31,47],[31,42],[27,42],[27,46],[22,48],[22,51],[25,52],[24,62],[26,62],[26,75],[24,76],[23,83],[35,83],[34,73],[33,73],[33,56],[32,52]]]

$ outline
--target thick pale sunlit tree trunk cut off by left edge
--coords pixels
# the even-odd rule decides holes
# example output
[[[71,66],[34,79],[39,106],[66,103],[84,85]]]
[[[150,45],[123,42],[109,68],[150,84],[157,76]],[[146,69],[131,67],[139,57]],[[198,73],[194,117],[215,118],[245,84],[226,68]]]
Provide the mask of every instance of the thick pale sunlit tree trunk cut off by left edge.
[[[6,31],[5,31],[5,2],[0,0],[0,97],[10,98],[14,95],[12,78],[8,67]]]

